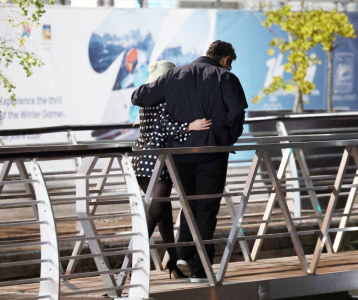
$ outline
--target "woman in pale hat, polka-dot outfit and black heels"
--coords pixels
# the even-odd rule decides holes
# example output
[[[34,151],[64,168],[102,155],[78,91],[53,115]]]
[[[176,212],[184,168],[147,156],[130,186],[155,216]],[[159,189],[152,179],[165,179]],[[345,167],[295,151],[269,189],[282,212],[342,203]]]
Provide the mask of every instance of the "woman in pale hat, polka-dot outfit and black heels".
[[[175,67],[175,64],[168,60],[153,61],[149,63],[149,78],[147,83],[154,81],[157,77],[164,74],[169,68]],[[177,140],[186,140],[190,136],[191,130],[209,129],[211,120],[197,119],[191,123],[182,123],[172,120],[166,113],[165,102],[155,106],[141,107],[139,112],[140,133],[135,141],[134,149],[157,149],[165,148],[168,136]],[[137,176],[138,184],[146,192],[156,162],[156,155],[133,156],[132,166]],[[169,197],[172,182],[167,168],[163,167],[160,174],[160,180],[154,186],[153,197]],[[152,235],[156,224],[164,243],[173,243],[173,217],[171,202],[152,201],[148,215],[147,225],[149,237]],[[176,267],[177,253],[175,248],[167,249],[169,261],[167,267],[169,276],[171,273],[175,278],[187,277],[180,269]]]

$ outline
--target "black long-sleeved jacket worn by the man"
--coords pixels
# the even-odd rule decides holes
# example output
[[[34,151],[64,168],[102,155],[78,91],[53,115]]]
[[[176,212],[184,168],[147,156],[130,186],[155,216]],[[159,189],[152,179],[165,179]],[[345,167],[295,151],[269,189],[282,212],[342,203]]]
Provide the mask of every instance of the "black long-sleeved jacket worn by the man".
[[[174,120],[192,122],[206,117],[213,122],[208,130],[191,131],[185,141],[169,139],[167,147],[231,145],[242,133],[248,107],[244,90],[238,77],[211,57],[171,68],[132,94],[132,103],[138,106],[164,100]]]

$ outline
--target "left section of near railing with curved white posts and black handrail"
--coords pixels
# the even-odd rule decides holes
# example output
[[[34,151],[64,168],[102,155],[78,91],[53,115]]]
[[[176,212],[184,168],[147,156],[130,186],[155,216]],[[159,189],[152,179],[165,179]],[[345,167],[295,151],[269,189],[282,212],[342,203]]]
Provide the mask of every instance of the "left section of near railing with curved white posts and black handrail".
[[[35,232],[32,236],[22,234],[8,236],[1,241],[2,253],[10,251],[13,256],[18,253],[19,260],[1,262],[0,268],[3,274],[14,266],[20,266],[25,273],[27,267],[40,266],[40,276],[34,278],[14,278],[0,282],[0,286],[19,285],[23,283],[39,283],[39,294],[32,298],[59,299],[61,296],[77,295],[89,292],[107,293],[112,297],[119,297],[128,293],[132,298],[147,298],[149,292],[149,244],[147,227],[144,215],[144,207],[139,186],[135,174],[131,168],[128,152],[130,147],[119,143],[112,144],[82,144],[59,146],[28,146],[28,147],[3,147],[1,155],[4,161],[1,172],[0,187],[2,199],[0,208],[3,209],[5,220],[0,223],[0,228],[10,227],[16,230]],[[41,162],[32,157],[41,159],[56,159],[61,163],[62,158],[84,156],[84,160],[75,174],[60,174],[44,176],[41,170]],[[32,158],[32,159],[31,159]],[[31,160],[30,160],[31,159]],[[111,165],[117,160],[119,168],[110,172]],[[102,160],[102,161],[101,161]],[[18,177],[9,177],[9,170],[16,163]],[[96,164],[103,165],[101,171],[94,171]],[[27,169],[30,169],[28,174]],[[115,180],[117,186],[104,188],[107,180]],[[74,190],[49,191],[48,184],[64,181],[75,183]],[[93,184],[95,186],[93,187]],[[9,185],[24,185],[26,194],[19,197],[7,197],[4,187]],[[97,207],[100,207],[97,212]],[[114,208],[115,207],[115,208]],[[21,208],[23,213],[13,214],[14,210]],[[32,208],[32,209],[28,209]],[[32,211],[31,211],[32,210]],[[65,214],[56,213],[64,211]],[[10,218],[6,216],[10,216]],[[11,216],[17,216],[16,219]],[[21,216],[21,217],[19,217]],[[127,219],[126,225],[130,225],[130,231],[121,232],[113,230],[111,226],[103,228],[103,222],[115,222]],[[63,223],[67,223],[67,231],[58,229]],[[102,225],[100,231],[99,224]],[[68,228],[73,228],[72,231]],[[76,230],[80,228],[80,232]],[[107,240],[112,243],[130,238],[131,246],[119,249],[105,249]],[[84,243],[90,253],[64,255],[61,249],[64,247],[81,248]],[[24,251],[39,252],[39,258],[24,259]],[[125,268],[113,267],[109,258],[120,260],[128,255],[132,256],[135,263]],[[74,272],[74,262],[92,258],[95,266],[87,271]],[[65,272],[63,264],[72,265],[72,272]],[[130,275],[130,283],[125,283]],[[66,288],[66,282],[70,279],[99,276],[101,285],[95,288]],[[26,296],[29,299],[29,295]]]

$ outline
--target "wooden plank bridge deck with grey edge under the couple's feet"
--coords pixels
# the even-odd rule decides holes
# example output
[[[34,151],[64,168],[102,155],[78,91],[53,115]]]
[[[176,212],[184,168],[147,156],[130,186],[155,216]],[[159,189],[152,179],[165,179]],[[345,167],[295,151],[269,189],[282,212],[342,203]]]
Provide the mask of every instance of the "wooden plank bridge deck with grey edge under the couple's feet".
[[[310,262],[311,255],[307,255]],[[219,265],[214,265],[217,271]],[[129,280],[127,280],[129,283]],[[102,285],[100,277],[72,279],[61,282],[61,296],[67,300],[106,298],[91,292]],[[36,296],[38,283],[0,288],[0,299],[26,299]],[[169,279],[168,271],[153,270],[150,276],[150,297],[154,300],[216,299],[268,300],[310,294],[338,292],[358,288],[358,251],[323,253],[315,275],[302,272],[296,256],[261,259],[254,262],[229,263],[223,285],[191,283],[189,279]],[[123,293],[123,297],[126,293]]]

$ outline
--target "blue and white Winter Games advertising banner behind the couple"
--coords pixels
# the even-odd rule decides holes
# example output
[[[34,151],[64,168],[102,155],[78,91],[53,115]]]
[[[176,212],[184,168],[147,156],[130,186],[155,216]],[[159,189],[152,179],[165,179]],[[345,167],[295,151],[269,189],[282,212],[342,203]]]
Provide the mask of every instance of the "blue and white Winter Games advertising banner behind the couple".
[[[231,9],[115,9],[47,6],[40,28],[23,28],[30,51],[45,65],[26,77],[17,63],[5,69],[17,85],[17,105],[0,89],[1,129],[71,124],[132,123],[138,107],[130,102],[133,90],[146,82],[148,63],[167,59],[177,65],[205,55],[209,44],[231,42],[237,59],[232,72],[240,79],[249,110],[291,109],[292,94],[277,92],[259,103],[249,100],[274,75],[283,75],[285,56],[268,55],[274,34],[263,27],[261,12]],[[1,10],[0,14],[6,12]],[[358,16],[349,14],[358,27]],[[4,22],[3,22],[4,24]],[[279,34],[285,34],[278,31]],[[12,36],[11,25],[0,34]],[[315,84],[305,97],[305,109],[325,109],[327,58],[319,47],[312,50],[322,64],[309,68]],[[357,109],[358,39],[343,42],[334,52],[333,107]],[[4,70],[3,70],[4,71]],[[287,76],[287,74],[285,74]],[[79,140],[134,138],[137,130],[76,132]],[[5,144],[65,141],[65,133],[3,137]]]

